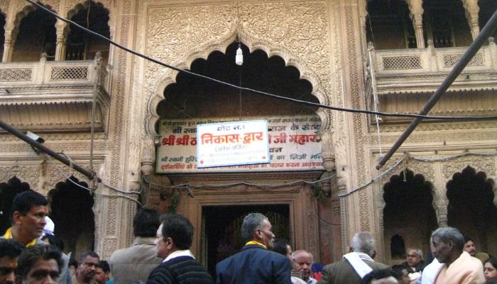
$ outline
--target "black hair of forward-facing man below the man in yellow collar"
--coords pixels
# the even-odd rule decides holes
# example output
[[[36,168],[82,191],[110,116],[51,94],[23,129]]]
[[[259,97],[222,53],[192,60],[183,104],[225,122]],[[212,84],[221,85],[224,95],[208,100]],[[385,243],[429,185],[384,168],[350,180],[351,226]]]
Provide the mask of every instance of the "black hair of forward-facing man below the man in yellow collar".
[[[62,253],[59,251],[57,246],[37,244],[24,249],[21,256],[19,256],[17,261],[17,275],[19,275],[21,279],[26,279],[29,271],[31,271],[31,268],[33,268],[36,261],[40,258],[45,261],[55,259],[55,261],[57,261],[59,272],[62,271],[64,261],[62,261]]]

